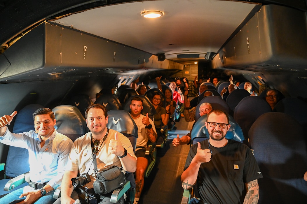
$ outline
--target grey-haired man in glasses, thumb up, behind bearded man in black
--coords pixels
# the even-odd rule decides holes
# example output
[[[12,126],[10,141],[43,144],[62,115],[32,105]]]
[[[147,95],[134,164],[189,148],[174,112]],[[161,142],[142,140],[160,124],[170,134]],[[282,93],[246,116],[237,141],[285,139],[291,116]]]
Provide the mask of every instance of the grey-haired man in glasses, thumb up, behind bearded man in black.
[[[194,110],[195,110],[195,108],[194,108]],[[210,103],[202,103],[199,106],[199,114],[200,114],[200,116],[208,114],[211,111],[212,111],[212,106],[211,106]],[[196,112],[194,112],[194,120],[195,120],[195,113]],[[177,135],[177,138],[173,139],[173,146],[174,147],[178,147],[181,144],[190,144],[190,142],[191,142],[191,133],[192,133],[192,129],[191,129],[191,131],[187,135],[184,135],[181,138],[179,137],[179,135]]]

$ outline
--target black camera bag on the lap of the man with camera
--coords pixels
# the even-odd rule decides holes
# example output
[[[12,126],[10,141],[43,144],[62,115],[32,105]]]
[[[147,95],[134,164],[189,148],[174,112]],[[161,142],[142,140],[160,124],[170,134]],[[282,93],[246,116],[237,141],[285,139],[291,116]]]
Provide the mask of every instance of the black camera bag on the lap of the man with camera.
[[[96,194],[106,194],[127,183],[125,174],[118,166],[111,166],[97,173],[93,183]]]

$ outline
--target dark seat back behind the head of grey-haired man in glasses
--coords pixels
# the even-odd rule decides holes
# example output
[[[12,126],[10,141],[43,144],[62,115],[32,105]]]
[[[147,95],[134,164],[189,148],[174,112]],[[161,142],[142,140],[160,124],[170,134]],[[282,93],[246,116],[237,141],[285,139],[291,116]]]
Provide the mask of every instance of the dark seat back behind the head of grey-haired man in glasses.
[[[223,110],[228,115],[231,115],[230,108],[228,107],[227,103],[223,100],[223,98],[221,98],[220,96],[207,96],[203,98],[196,107],[195,121],[197,121],[200,118],[199,106],[205,102],[210,103],[214,110],[216,109]]]

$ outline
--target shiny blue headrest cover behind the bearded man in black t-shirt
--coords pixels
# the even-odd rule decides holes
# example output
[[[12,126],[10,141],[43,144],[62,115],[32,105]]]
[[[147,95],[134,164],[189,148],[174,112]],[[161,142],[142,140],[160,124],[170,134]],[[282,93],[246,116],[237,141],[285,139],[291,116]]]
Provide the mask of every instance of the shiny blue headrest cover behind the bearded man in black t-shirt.
[[[197,142],[209,138],[208,129],[206,128],[205,125],[205,121],[207,121],[207,116],[208,114],[203,115],[198,119],[198,121],[195,122],[191,133],[192,144],[196,144]],[[244,136],[240,126],[229,114],[228,117],[229,117],[229,124],[231,126],[227,131],[225,138],[242,142],[244,140]]]

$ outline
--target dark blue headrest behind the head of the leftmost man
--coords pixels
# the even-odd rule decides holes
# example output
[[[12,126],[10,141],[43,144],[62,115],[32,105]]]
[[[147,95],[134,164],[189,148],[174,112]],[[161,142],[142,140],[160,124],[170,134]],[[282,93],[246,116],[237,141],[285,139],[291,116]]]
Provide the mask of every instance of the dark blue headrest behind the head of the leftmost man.
[[[32,114],[39,108],[44,108],[44,106],[39,104],[29,104],[22,108],[15,116],[13,132],[24,133],[30,130],[34,130]]]

